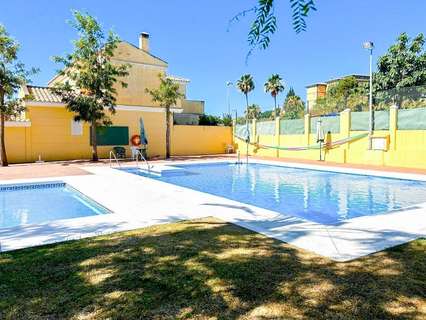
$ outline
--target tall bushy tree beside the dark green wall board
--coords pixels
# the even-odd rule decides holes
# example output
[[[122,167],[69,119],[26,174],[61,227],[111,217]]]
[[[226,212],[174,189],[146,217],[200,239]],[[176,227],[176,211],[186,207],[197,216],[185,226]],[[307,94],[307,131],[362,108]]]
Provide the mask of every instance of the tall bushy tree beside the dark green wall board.
[[[74,12],[71,25],[79,39],[74,41],[74,52],[65,57],[54,57],[63,64],[59,72],[65,81],[57,83],[54,92],[61,97],[66,108],[73,112],[75,121],[91,124],[92,160],[98,161],[96,133],[100,126],[112,124],[106,110],[115,113],[116,89],[119,78],[128,75],[128,65],[112,63],[114,49],[120,42],[118,36],[104,33],[98,21],[88,14]]]

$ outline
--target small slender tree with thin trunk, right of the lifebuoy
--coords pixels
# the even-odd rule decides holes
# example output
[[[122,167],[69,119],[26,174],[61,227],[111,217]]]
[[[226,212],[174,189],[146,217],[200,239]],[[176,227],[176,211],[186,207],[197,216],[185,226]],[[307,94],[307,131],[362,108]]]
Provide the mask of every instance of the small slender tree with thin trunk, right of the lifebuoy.
[[[179,85],[173,80],[159,74],[160,86],[157,89],[145,89],[152,97],[152,101],[157,102],[161,107],[166,108],[166,158],[170,158],[170,119],[172,113],[170,108],[175,106],[178,99],[183,95],[179,92]]]

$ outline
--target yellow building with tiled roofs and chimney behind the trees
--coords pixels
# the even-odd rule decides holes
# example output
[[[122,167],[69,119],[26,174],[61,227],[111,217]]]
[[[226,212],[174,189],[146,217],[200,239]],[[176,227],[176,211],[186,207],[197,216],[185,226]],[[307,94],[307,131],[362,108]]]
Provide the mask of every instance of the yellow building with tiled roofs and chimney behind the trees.
[[[120,42],[114,53],[113,61],[130,65],[129,75],[124,79],[128,86],[126,88],[117,86],[117,112],[111,116],[113,125],[106,129],[109,132],[106,136],[109,138],[98,142],[99,156],[108,157],[112,147],[119,145],[126,147],[129,155],[130,138],[132,135],[139,134],[139,119],[142,118],[149,142],[148,156],[151,158],[164,157],[166,148],[165,109],[154,103],[145,90],[158,87],[158,75],[160,73],[167,75],[167,62],[150,52],[147,33],[140,34],[139,46],[125,41]],[[172,112],[189,116],[203,114],[203,101],[186,99],[186,87],[189,80],[167,76],[179,84],[180,91],[184,96],[172,108]],[[45,161],[88,159],[91,157],[89,124],[75,122],[74,115],[67,111],[60,98],[50,89],[55,83],[61,81],[64,81],[64,78],[56,76],[49,81],[46,87],[27,85],[21,88],[21,96],[31,97],[31,100],[25,102],[26,111],[18,119],[19,121],[6,123],[6,146],[11,162],[31,162],[38,159]],[[229,139],[232,139],[231,130],[226,132]],[[182,128],[179,134],[182,136]],[[182,148],[179,150],[181,153],[183,152]],[[214,150],[217,151],[218,147],[215,146]],[[209,153],[209,150],[205,150],[205,153]]]

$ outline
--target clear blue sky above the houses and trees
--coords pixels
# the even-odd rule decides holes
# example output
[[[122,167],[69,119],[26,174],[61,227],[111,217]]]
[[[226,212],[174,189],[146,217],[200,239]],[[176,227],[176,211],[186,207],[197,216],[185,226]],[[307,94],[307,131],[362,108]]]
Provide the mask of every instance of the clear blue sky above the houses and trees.
[[[106,28],[137,44],[138,34],[151,34],[151,52],[169,63],[169,73],[191,79],[188,98],[206,101],[206,112],[227,111],[226,86],[251,73],[256,89],[250,102],[263,110],[273,105],[263,91],[271,73],[279,73],[286,87],[305,99],[305,86],[345,74],[367,74],[365,40],[383,54],[399,33],[426,32],[424,0],[317,0],[317,12],[308,18],[308,30],[291,28],[288,0],[277,0],[278,32],[270,48],[257,51],[245,63],[247,31],[252,16],[233,24],[229,20],[252,7],[255,0],[13,0],[0,2],[0,23],[22,45],[21,60],[41,72],[33,79],[45,85],[55,74],[53,55],[71,50],[74,30],[66,23],[71,10],[94,15]],[[279,97],[282,103],[284,95]],[[241,113],[242,96],[233,89],[231,104]]]

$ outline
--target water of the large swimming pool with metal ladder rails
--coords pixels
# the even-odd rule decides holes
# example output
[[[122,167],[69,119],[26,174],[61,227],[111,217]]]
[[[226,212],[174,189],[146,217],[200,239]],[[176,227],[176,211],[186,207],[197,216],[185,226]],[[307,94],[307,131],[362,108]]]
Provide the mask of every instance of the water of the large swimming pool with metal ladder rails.
[[[178,165],[183,173],[130,173],[207,192],[306,220],[337,224],[426,202],[426,182],[229,163]]]

